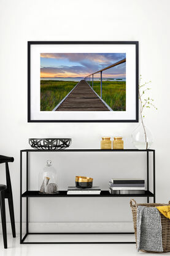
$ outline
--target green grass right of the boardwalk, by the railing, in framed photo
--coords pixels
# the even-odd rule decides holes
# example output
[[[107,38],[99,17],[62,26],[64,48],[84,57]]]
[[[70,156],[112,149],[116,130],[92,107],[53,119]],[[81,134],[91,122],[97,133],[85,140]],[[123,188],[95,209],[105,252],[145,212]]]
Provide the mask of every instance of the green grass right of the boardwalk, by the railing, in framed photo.
[[[101,96],[100,81],[93,81],[94,91]],[[114,111],[126,110],[126,82],[102,81],[102,99]]]

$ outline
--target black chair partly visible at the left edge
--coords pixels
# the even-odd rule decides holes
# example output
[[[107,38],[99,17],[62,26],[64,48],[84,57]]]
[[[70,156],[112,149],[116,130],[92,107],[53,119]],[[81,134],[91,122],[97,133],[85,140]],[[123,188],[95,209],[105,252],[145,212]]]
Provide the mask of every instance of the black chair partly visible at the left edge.
[[[4,248],[7,248],[7,229],[6,229],[6,206],[5,198],[8,199],[9,203],[9,213],[10,213],[10,222],[12,227],[12,235],[16,237],[15,233],[15,218],[14,218],[14,204],[12,198],[12,188],[10,183],[10,174],[9,174],[9,162],[14,162],[14,157],[6,157],[0,155],[0,163],[6,163],[6,181],[7,184],[0,184],[0,205],[1,205],[1,218],[2,218],[2,234],[4,239]]]

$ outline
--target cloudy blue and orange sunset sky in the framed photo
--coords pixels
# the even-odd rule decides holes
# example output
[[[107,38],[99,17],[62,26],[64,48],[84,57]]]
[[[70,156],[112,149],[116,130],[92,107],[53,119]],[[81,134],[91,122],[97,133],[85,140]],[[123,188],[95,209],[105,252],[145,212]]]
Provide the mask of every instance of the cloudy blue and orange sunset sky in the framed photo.
[[[85,77],[125,57],[125,53],[41,53],[41,78]],[[105,70],[102,76],[125,78],[126,62]]]

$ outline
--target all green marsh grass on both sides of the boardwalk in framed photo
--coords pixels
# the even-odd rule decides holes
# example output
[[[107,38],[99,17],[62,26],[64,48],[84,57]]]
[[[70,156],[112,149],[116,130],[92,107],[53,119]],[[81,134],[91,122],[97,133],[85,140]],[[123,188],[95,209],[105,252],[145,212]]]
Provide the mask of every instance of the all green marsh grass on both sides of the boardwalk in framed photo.
[[[52,111],[75,85],[77,81],[41,80],[41,111]],[[100,96],[100,81],[93,82],[93,89]],[[102,99],[114,111],[125,111],[126,82],[102,81]]]

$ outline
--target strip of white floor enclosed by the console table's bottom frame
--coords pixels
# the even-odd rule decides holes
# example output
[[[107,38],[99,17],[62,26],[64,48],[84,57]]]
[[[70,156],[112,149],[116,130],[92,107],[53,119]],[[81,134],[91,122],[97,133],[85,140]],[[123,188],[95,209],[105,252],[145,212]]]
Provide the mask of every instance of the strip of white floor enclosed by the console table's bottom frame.
[[[134,244],[133,233],[28,233],[21,244]]]

